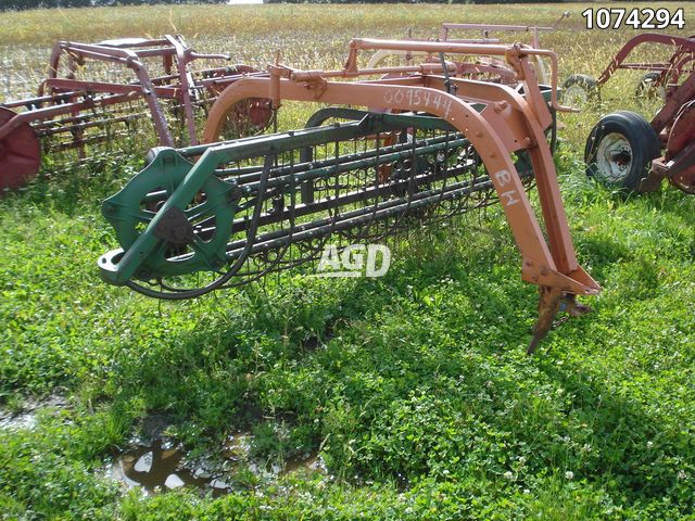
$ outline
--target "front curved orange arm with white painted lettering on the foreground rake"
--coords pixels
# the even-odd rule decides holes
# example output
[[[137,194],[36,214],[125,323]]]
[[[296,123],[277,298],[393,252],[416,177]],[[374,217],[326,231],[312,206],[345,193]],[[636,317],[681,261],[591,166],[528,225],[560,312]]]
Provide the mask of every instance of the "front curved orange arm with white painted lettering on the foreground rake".
[[[534,284],[554,288],[558,292],[572,294],[598,292],[598,284],[585,277],[583,271],[574,269],[560,272],[558,270],[518,173],[511,163],[509,150],[485,116],[464,100],[428,87],[329,81],[323,85],[320,96],[317,98],[312,86],[302,81],[279,77],[275,80],[274,78],[244,78],[225,89],[213,105],[205,127],[204,140],[214,142],[217,139],[228,111],[236,103],[247,98],[257,98],[268,93],[270,97],[278,96],[293,101],[351,105],[379,103],[390,110],[424,111],[446,119],[470,140],[476,150],[480,151],[481,158],[491,173],[507,223],[523,258],[523,279]],[[539,131],[541,131],[540,127]],[[536,162],[541,163],[542,177],[545,176],[548,179],[554,177],[549,153],[540,155]],[[556,204],[561,206],[560,201]],[[555,212],[554,215],[561,224],[565,214]],[[566,220],[564,225],[567,229]],[[572,247],[571,240],[565,244]],[[568,266],[574,267],[571,264]]]

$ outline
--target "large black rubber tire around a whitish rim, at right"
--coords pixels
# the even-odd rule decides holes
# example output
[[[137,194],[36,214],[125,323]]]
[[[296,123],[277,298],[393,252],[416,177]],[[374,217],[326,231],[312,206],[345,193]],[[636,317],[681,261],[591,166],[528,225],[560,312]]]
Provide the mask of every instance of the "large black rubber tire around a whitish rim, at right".
[[[608,182],[598,173],[595,160],[598,143],[610,134],[620,134],[632,149],[632,164],[627,175],[617,182]],[[639,192],[642,179],[646,177],[652,160],[661,155],[659,138],[652,125],[636,112],[618,111],[602,117],[592,128],[584,147],[586,175],[612,188],[626,192]]]

